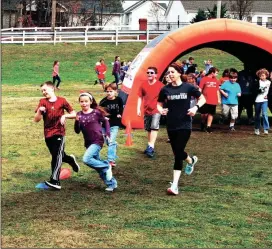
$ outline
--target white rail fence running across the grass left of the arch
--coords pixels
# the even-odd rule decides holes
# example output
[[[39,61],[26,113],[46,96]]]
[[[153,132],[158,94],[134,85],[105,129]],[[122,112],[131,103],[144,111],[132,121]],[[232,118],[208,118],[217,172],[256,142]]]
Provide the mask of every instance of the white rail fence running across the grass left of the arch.
[[[102,26],[10,28],[1,30],[1,44],[70,43],[81,42],[146,42],[168,30],[128,30],[127,26],[116,26],[104,30]]]

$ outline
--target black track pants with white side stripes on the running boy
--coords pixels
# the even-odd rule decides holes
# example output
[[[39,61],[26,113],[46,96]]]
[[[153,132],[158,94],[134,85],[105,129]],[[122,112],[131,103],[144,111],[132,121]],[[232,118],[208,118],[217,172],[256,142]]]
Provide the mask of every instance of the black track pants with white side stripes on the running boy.
[[[59,175],[61,170],[62,162],[73,163],[73,158],[66,155],[64,152],[65,137],[63,136],[53,136],[45,139],[45,143],[52,156],[51,160],[51,177],[50,180],[59,181]]]

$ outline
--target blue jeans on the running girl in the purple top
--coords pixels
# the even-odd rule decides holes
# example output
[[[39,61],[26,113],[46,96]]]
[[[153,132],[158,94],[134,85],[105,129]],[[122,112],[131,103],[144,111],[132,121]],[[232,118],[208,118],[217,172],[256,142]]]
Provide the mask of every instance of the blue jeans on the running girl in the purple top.
[[[83,163],[95,169],[107,186],[112,186],[116,184],[116,180],[114,177],[106,178],[106,172],[110,166],[108,161],[100,159],[100,150],[101,147],[98,144],[91,144],[83,155]]]

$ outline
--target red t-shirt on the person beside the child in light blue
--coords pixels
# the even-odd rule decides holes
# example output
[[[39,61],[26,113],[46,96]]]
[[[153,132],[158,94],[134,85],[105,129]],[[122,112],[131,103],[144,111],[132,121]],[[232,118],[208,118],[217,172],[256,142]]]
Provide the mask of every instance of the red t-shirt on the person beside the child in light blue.
[[[217,105],[219,91],[219,80],[216,78],[210,78],[205,76],[199,83],[199,88],[202,90],[202,94],[206,98],[206,104]]]

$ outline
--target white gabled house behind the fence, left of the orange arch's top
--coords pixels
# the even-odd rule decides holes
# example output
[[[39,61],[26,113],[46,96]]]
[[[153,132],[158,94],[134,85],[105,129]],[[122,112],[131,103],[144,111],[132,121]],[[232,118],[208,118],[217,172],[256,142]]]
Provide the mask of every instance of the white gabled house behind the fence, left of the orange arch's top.
[[[121,16],[121,24],[129,25],[130,29],[139,29],[139,19],[147,19],[148,22],[160,23],[165,22],[165,11],[168,1],[135,1],[132,5],[124,10]],[[154,27],[155,28],[155,27]]]

